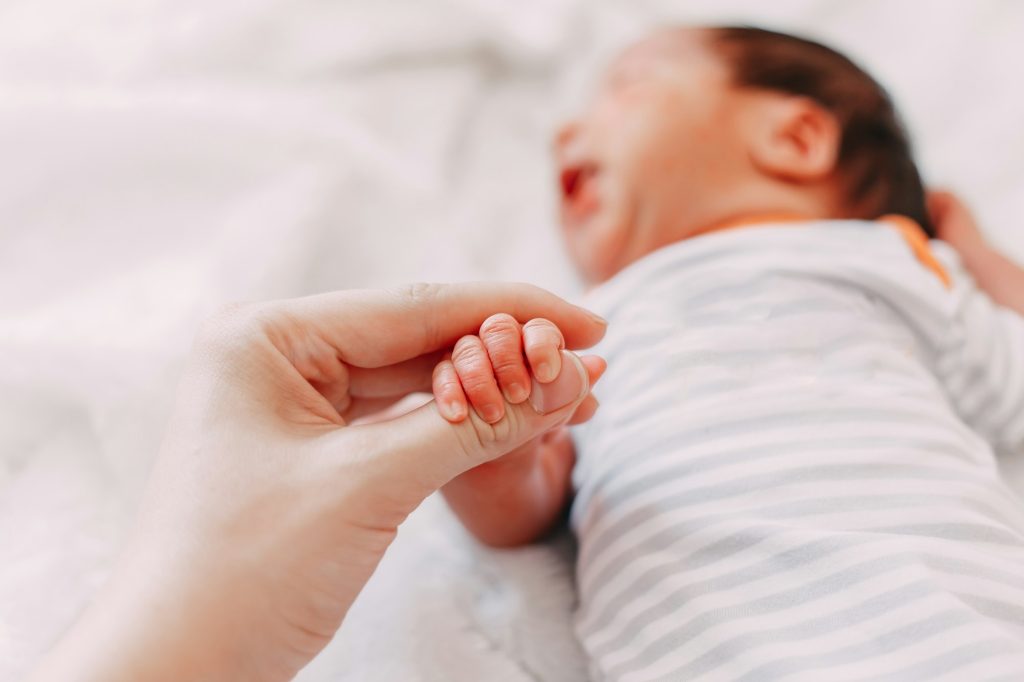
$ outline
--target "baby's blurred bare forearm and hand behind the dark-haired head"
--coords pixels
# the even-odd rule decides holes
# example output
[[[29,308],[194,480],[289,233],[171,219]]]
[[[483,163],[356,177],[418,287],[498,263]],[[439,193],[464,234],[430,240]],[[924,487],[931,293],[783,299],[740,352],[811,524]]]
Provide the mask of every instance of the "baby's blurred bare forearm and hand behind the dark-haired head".
[[[985,240],[974,216],[956,196],[934,191],[928,204],[939,238],[959,254],[981,290],[999,305],[1024,315],[1024,267]]]

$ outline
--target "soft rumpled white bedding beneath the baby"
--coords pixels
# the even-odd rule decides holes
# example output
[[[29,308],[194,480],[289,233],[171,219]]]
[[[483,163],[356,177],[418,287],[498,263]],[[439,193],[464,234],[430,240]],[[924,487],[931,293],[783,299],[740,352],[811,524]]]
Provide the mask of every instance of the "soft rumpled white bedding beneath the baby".
[[[1014,0],[0,3],[0,679],[103,580],[216,306],[417,280],[578,293],[548,138],[609,49],[669,19],[847,50],[928,178],[1024,258]],[[475,548],[431,501],[302,679],[583,679],[565,553]]]

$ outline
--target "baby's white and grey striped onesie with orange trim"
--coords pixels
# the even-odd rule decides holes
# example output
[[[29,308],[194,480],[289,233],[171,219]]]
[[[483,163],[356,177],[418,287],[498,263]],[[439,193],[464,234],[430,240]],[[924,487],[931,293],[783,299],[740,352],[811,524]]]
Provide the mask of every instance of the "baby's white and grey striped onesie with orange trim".
[[[921,250],[766,224],[592,294],[608,370],[570,521],[595,680],[1024,680],[994,456],[1024,444],[1024,319]]]

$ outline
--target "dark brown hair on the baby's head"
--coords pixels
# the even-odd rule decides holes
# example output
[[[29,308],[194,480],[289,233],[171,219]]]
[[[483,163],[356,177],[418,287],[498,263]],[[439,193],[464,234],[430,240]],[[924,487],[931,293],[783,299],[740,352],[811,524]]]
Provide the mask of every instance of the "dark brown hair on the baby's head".
[[[840,123],[839,171],[853,217],[896,213],[935,230],[910,140],[886,90],[848,57],[820,43],[752,27],[708,30],[739,87],[813,99]]]

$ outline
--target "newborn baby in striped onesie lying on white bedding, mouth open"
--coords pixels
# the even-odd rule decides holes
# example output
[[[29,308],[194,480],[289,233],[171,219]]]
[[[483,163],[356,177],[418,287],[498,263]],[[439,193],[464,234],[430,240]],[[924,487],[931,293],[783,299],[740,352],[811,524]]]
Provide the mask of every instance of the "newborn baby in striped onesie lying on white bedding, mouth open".
[[[1024,679],[1024,506],[994,457],[1024,444],[1024,270],[951,197],[928,210],[879,85],[790,36],[666,31],[557,152],[609,322],[601,409],[444,494],[495,546],[571,501],[593,677]],[[562,346],[489,319],[439,409],[500,420]]]

